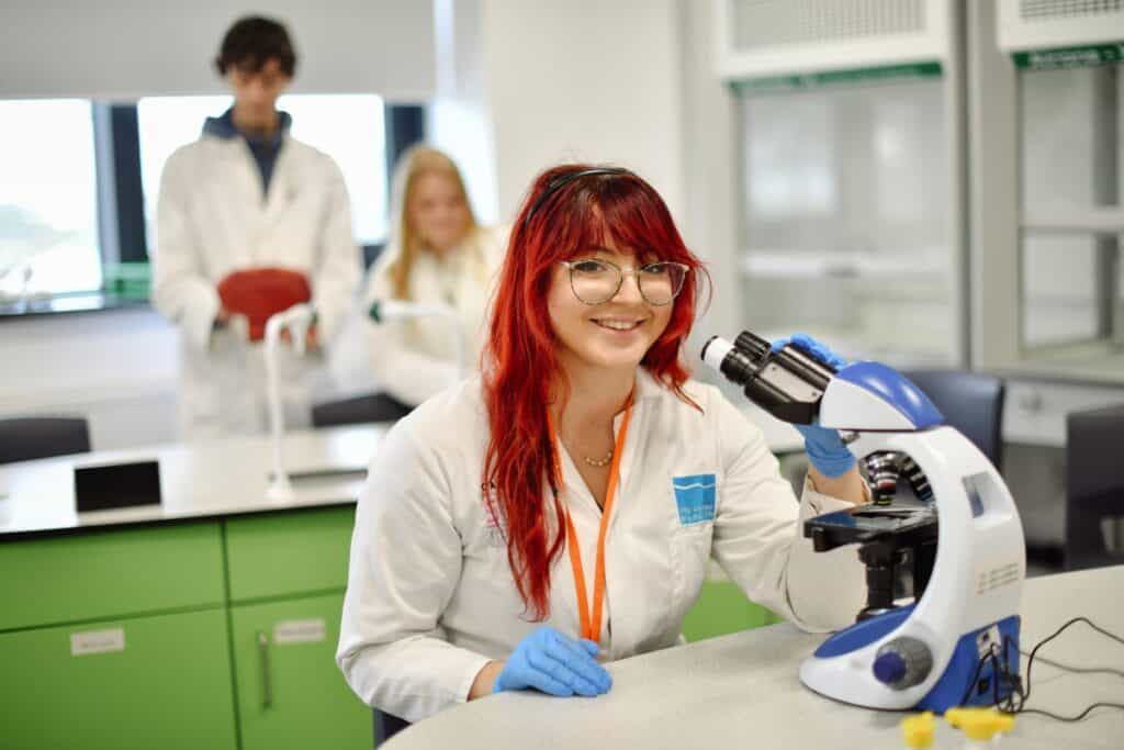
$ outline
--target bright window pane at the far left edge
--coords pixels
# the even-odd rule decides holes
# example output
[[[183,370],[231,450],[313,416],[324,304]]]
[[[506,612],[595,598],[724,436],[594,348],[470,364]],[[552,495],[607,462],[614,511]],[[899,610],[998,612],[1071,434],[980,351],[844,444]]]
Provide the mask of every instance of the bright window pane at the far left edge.
[[[0,304],[101,287],[87,100],[0,101]]]

